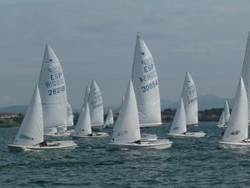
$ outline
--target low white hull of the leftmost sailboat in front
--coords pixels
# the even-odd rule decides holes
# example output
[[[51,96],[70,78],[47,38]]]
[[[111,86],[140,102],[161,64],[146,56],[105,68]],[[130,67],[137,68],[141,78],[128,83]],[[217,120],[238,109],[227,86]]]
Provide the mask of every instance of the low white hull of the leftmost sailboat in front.
[[[75,147],[77,147],[77,144],[71,140],[48,142],[47,146],[40,146],[40,145],[26,146],[26,145],[15,145],[15,144],[8,145],[10,151],[40,151],[40,150],[66,149]]]

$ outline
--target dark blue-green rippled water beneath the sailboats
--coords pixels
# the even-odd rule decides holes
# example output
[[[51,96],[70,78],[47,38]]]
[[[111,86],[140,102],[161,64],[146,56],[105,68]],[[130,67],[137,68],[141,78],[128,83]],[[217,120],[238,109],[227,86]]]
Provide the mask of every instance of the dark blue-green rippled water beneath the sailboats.
[[[166,138],[169,125],[144,129]],[[12,153],[17,128],[0,129],[0,187],[250,187],[250,150],[221,149],[221,130],[171,139],[167,150],[109,150],[109,138],[80,140],[73,150]],[[109,132],[111,130],[108,130]]]

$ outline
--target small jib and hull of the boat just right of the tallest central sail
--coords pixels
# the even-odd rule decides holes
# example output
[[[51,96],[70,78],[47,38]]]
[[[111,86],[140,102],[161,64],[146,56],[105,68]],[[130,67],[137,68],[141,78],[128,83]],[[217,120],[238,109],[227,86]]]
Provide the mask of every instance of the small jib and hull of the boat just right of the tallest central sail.
[[[200,132],[187,132],[186,113],[183,99],[180,99],[179,105],[174,116],[173,123],[169,130],[169,136],[175,137],[204,137],[206,134]]]

